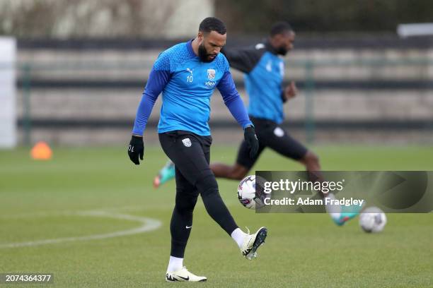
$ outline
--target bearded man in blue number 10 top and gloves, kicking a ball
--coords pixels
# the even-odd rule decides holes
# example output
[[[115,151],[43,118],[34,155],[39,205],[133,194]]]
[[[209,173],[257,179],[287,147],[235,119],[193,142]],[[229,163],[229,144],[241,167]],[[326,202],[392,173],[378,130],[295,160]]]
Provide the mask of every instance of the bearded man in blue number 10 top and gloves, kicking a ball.
[[[241,97],[229,71],[229,62],[219,53],[226,44],[226,27],[221,20],[205,18],[194,40],[177,44],[159,54],[147,81],[128,147],[129,158],[143,160],[143,132],[151,109],[162,92],[158,135],[161,147],[175,164],[176,196],[171,217],[171,256],[166,280],[206,281],[183,266],[183,257],[192,227],[192,212],[197,197],[202,196],[209,215],[229,234],[243,256],[255,258],[255,251],[265,241],[267,229],[255,234],[239,229],[219,196],[218,184],[209,167],[212,137],[207,122],[210,97],[215,88],[233,117],[244,130],[249,157],[255,157],[259,143]]]

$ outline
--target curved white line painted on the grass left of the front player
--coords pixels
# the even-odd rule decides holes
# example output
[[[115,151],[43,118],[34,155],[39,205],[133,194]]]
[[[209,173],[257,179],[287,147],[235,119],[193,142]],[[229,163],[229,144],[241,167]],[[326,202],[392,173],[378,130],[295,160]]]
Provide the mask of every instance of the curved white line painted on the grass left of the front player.
[[[71,215],[71,214],[70,214]],[[37,241],[28,241],[28,242],[18,242],[18,243],[9,243],[9,244],[0,244],[0,248],[18,248],[25,246],[40,246],[47,244],[57,244],[63,242],[72,242],[72,241],[87,241],[87,240],[98,240],[98,239],[108,239],[120,236],[127,236],[133,234],[139,234],[144,232],[149,232],[152,230],[156,230],[161,227],[161,221],[147,218],[147,217],[139,217],[133,215],[126,214],[118,214],[118,213],[110,213],[104,211],[88,211],[88,212],[76,212],[74,215],[79,216],[92,216],[92,217],[108,217],[120,220],[128,220],[128,221],[137,221],[142,222],[141,227],[137,227],[134,229],[128,229],[123,231],[105,233],[105,234],[93,234],[88,236],[79,236],[79,237],[65,237],[65,238],[57,238],[57,239],[45,239],[45,240],[37,240]]]

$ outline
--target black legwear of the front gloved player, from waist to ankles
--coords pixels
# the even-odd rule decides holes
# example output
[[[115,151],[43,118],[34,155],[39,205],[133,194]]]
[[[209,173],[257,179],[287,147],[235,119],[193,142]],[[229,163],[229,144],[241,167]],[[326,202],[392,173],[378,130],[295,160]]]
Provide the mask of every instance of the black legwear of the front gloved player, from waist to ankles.
[[[238,226],[221,196],[212,170],[209,168],[211,136],[199,136],[189,131],[159,134],[159,142],[175,164],[176,198],[171,217],[171,256],[183,258],[192,227],[192,211],[197,197],[215,222],[231,234]]]

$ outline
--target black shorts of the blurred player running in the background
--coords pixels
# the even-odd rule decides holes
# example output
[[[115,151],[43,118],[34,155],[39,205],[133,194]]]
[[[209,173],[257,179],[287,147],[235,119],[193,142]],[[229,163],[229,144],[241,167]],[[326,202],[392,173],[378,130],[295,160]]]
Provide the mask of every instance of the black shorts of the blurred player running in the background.
[[[244,140],[238,151],[238,159],[236,160],[238,164],[251,169],[262,151],[267,147],[293,160],[300,160],[306,155],[307,148],[294,138],[291,138],[287,131],[284,131],[274,121],[251,116],[250,119],[253,121],[255,134],[259,140],[259,150],[254,158],[250,158],[250,152]]]

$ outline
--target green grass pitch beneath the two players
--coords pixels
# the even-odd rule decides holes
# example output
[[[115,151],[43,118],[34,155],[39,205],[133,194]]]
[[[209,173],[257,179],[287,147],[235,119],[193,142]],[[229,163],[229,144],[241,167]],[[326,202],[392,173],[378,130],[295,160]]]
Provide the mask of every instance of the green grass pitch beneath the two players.
[[[236,149],[215,145],[212,160],[231,163]],[[315,150],[324,170],[433,169],[430,147]],[[59,148],[49,162],[23,148],[0,151],[0,273],[51,272],[48,287],[173,286],[164,275],[175,186],[151,186],[165,161],[147,147],[137,167],[125,148]],[[254,168],[302,169],[271,151]],[[336,227],[328,215],[256,215],[238,203],[236,186],[219,180],[240,227],[268,227],[266,244],[257,260],[242,258],[199,200],[185,254],[187,268],[208,277],[197,286],[433,287],[432,213],[388,214],[383,233],[365,234],[357,220]],[[161,226],[136,231],[152,223]]]

